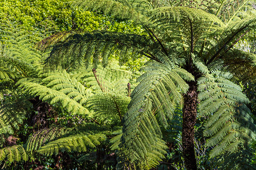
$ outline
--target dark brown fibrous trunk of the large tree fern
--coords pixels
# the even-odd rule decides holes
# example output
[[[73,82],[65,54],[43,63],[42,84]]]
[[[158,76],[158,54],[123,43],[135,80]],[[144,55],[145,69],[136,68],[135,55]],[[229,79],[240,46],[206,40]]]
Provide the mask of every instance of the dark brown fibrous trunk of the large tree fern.
[[[184,95],[183,124],[182,124],[182,147],[185,167],[188,170],[197,169],[194,148],[197,104],[196,82],[189,82],[189,90]]]

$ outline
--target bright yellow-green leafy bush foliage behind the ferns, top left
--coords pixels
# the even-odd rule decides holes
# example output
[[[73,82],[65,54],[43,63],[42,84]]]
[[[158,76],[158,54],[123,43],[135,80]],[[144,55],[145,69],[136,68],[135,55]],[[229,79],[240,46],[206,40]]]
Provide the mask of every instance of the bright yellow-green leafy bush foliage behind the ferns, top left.
[[[112,17],[97,12],[71,9],[69,1],[1,1],[0,18],[15,20],[27,29],[42,28],[43,21],[47,27],[55,27],[53,31],[70,29],[109,29],[111,31],[141,32],[141,28],[133,27],[129,22],[116,22]],[[40,24],[39,24],[40,23]]]

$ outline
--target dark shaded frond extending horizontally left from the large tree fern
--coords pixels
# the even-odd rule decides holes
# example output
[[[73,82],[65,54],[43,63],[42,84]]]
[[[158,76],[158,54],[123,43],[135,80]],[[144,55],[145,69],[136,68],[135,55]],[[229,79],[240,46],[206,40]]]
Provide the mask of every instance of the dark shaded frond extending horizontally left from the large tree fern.
[[[148,38],[141,35],[107,31],[85,32],[71,35],[55,45],[46,62],[50,67],[60,66],[67,69],[81,65],[88,67],[93,61],[93,67],[96,68],[100,60],[108,64],[109,56],[117,54],[116,50],[124,52],[122,55],[126,55],[130,51],[128,49],[133,49],[133,53],[140,53],[149,43]],[[127,50],[123,50],[124,46]]]

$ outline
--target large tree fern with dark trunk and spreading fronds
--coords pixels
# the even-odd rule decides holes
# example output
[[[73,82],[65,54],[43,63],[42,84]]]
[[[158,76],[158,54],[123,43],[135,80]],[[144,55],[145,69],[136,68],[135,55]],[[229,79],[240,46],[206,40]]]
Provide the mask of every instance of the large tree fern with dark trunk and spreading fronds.
[[[166,148],[160,129],[167,127],[176,105],[184,100],[184,161],[187,169],[196,169],[193,139],[197,106],[200,114],[209,117],[204,132],[211,137],[208,146],[218,145],[211,156],[236,152],[240,144],[254,138],[254,124],[243,105],[248,102],[246,96],[228,80],[229,74],[219,72],[231,68],[230,73],[236,73],[229,66],[235,59],[236,65],[242,61],[248,70],[255,69],[253,55],[232,49],[255,27],[255,14],[243,15],[250,2],[75,1],[75,7],[133,20],[147,36],[98,31],[72,34],[57,42],[47,62],[55,69],[88,67],[90,63],[96,68],[100,62],[108,65],[112,54],[119,56],[121,65],[131,54],[150,58],[123,117],[119,153],[133,167],[155,167]],[[53,36],[44,44],[52,45],[55,40]]]

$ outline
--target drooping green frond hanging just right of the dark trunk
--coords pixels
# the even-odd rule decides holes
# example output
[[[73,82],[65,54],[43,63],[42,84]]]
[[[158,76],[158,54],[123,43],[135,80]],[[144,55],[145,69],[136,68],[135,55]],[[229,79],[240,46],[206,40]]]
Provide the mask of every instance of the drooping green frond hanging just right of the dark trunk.
[[[225,75],[225,74],[222,74]],[[249,100],[236,84],[223,78],[219,72],[199,79],[199,111],[209,116],[204,135],[210,137],[207,146],[215,146],[210,156],[232,154],[240,145],[256,137],[256,126],[244,104]]]

